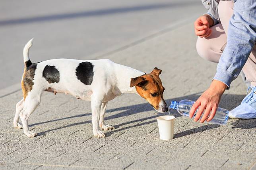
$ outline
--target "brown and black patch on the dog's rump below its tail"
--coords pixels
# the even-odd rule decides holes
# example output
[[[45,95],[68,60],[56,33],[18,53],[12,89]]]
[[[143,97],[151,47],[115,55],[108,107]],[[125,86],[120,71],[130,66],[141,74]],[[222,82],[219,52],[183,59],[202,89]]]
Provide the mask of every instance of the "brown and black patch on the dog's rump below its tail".
[[[36,69],[37,69],[37,63],[33,63],[26,68],[25,74],[23,76],[23,85],[24,85],[26,94],[32,90],[32,86],[34,85],[33,80],[34,80]]]

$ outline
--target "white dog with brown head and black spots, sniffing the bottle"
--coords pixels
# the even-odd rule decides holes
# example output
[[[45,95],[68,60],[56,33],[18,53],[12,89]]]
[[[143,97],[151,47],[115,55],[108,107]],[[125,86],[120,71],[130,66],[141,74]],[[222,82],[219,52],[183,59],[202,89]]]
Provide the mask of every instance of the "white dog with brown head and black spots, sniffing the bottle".
[[[114,126],[104,121],[107,103],[123,93],[140,95],[160,113],[168,111],[163,99],[165,88],[159,78],[160,69],[155,67],[151,73],[146,74],[109,59],[50,59],[32,63],[29,59],[32,40],[23,49],[23,99],[16,104],[13,122],[14,128],[23,128],[27,137],[37,135],[29,131],[28,118],[39,105],[45,91],[70,94],[77,99],[91,101],[93,135],[98,138],[105,138],[102,130],[114,129]],[[18,122],[19,118],[22,125]]]

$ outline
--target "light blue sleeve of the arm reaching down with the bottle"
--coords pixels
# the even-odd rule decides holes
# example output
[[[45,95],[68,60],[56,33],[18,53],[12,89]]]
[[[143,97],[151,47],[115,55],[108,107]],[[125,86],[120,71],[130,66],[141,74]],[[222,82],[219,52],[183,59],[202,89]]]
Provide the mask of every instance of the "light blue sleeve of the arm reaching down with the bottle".
[[[227,45],[223,51],[217,73],[219,80],[230,87],[246,63],[256,41],[256,0],[237,0],[229,21]]]

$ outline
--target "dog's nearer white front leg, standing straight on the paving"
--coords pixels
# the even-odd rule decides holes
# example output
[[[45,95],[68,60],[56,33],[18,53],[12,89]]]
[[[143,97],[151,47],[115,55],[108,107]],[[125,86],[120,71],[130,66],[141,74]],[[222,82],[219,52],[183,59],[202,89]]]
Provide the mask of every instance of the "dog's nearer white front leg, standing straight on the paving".
[[[105,134],[99,129],[99,119],[101,114],[101,104],[102,100],[91,97],[91,114],[93,123],[93,135],[98,138],[105,138]]]

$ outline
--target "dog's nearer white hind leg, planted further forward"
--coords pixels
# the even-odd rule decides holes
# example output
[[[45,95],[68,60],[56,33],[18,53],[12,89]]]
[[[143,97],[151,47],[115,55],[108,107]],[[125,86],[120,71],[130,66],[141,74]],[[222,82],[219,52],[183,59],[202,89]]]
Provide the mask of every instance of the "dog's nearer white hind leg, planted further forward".
[[[23,132],[29,138],[33,138],[37,134],[35,132],[29,131],[28,119],[31,113],[35,111],[35,109],[37,108],[37,106],[41,101],[41,93],[36,94],[35,92],[34,93],[31,93],[31,92],[26,97],[24,101],[24,107],[22,111],[19,113],[19,118],[21,119],[22,125],[23,125]]]

